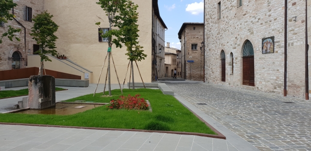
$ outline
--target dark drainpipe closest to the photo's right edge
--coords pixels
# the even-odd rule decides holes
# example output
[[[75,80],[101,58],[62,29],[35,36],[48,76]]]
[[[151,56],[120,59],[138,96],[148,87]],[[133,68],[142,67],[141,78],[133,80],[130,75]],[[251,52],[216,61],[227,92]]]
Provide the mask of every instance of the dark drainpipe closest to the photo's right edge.
[[[309,100],[309,67],[308,67],[308,0],[306,0],[306,100]]]

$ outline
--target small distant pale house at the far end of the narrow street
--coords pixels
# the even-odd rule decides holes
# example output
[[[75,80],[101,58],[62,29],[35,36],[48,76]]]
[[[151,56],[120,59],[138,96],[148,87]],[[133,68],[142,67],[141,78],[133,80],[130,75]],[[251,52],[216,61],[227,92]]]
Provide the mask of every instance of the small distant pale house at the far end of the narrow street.
[[[173,77],[174,70],[176,70],[176,77],[181,76],[181,68],[178,66],[178,54],[180,50],[171,48],[170,43],[166,44],[165,49],[165,77]]]

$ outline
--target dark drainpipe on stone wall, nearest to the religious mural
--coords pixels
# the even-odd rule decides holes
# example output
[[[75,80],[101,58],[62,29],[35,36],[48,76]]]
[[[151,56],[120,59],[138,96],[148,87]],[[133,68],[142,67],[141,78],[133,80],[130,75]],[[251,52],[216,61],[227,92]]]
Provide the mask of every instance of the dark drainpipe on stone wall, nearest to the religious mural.
[[[285,0],[284,17],[284,97],[287,96],[287,0]]]

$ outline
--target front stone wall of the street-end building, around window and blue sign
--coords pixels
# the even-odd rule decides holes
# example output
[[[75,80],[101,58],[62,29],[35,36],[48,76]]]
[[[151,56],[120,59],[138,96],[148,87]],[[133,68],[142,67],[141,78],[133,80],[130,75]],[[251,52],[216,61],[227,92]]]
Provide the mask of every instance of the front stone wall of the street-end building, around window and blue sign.
[[[195,27],[195,30],[193,29]],[[200,50],[204,38],[203,25],[187,25],[186,31],[186,79],[203,81],[204,53]],[[197,50],[191,50],[191,44],[197,44]],[[187,62],[193,60],[194,63]]]

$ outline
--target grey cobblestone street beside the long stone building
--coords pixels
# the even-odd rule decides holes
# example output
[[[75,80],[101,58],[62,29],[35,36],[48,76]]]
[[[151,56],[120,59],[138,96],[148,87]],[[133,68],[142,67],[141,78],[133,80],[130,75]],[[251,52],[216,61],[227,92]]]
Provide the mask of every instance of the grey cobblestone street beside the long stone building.
[[[311,101],[215,84],[166,84],[260,151],[311,151]]]

